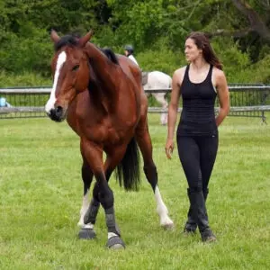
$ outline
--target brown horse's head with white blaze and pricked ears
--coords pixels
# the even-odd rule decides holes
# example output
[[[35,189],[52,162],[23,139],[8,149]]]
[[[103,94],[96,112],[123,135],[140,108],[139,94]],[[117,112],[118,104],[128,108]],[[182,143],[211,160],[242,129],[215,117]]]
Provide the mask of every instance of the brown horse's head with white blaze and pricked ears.
[[[60,39],[56,31],[50,33],[56,52],[51,61],[54,81],[45,111],[53,121],[65,120],[68,105],[87,88],[90,72],[84,47],[91,36],[92,31],[82,38],[67,35]]]

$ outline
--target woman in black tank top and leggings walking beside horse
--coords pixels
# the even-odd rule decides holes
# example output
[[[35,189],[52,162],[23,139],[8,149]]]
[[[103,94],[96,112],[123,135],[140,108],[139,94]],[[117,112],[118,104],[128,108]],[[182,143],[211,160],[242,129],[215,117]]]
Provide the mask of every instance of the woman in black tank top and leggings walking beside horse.
[[[187,179],[190,201],[185,233],[199,227],[202,241],[215,241],[205,207],[211,170],[215,162],[218,127],[229,112],[229,89],[220,60],[202,32],[192,32],[185,40],[186,67],[175,70],[168,107],[166,157],[174,150],[175,121],[180,94],[183,111],[176,131],[178,155]],[[220,111],[215,117],[218,95]]]

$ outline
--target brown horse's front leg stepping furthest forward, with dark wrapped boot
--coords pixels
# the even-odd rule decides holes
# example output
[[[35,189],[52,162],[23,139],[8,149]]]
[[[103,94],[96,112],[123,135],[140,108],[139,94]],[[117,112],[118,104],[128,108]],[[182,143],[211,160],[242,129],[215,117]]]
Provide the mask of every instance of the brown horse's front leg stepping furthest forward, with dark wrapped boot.
[[[92,168],[96,180],[93,199],[96,202],[100,202],[105,211],[105,220],[108,229],[107,247],[120,248],[124,247],[124,243],[121,240],[121,235],[115,222],[115,214],[113,206],[114,198],[112,189],[109,187],[105,176],[102,154],[103,154],[102,148],[99,148],[98,146],[94,145],[94,143],[91,143],[89,141],[86,140],[84,141],[84,155],[88,161],[88,164]],[[91,211],[92,207],[93,205],[90,203],[89,211]],[[94,213],[94,218],[96,217],[97,211]],[[85,220],[86,216],[87,213],[85,214]]]

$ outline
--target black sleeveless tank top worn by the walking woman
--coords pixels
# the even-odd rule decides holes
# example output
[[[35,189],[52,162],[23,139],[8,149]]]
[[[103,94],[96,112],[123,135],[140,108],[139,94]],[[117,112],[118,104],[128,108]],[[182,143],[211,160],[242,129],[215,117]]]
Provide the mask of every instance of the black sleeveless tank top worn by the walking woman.
[[[192,83],[189,79],[189,65],[185,68],[181,85],[183,111],[177,129],[180,136],[207,136],[218,133],[214,104],[216,92],[211,83],[212,67],[202,83]]]

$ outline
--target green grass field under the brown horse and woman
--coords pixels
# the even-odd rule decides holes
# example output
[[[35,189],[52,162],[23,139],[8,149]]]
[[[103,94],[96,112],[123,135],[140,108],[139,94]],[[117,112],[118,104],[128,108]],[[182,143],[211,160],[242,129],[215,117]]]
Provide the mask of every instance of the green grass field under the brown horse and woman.
[[[268,115],[268,121],[270,115]],[[79,240],[83,185],[79,141],[67,123],[0,121],[0,269],[270,269],[270,124],[228,118],[207,202],[218,242],[182,235],[186,181],[175,151],[167,160],[166,128],[149,116],[160,191],[175,230],[159,227],[150,185],[138,193],[111,179],[115,211],[127,248],[104,246],[103,210],[97,239]]]

